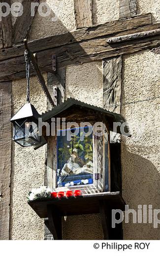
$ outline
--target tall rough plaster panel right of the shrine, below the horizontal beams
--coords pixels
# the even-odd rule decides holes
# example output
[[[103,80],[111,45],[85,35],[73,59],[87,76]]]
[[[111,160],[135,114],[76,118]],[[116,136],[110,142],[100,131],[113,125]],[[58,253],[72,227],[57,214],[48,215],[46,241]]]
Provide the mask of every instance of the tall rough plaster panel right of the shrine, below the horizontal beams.
[[[160,55],[151,51],[126,56],[123,102],[160,96]],[[122,107],[132,137],[122,140],[123,197],[129,209],[138,204],[160,209],[160,99]],[[129,217],[131,220],[132,217]],[[124,224],[124,239],[160,239],[153,224]]]

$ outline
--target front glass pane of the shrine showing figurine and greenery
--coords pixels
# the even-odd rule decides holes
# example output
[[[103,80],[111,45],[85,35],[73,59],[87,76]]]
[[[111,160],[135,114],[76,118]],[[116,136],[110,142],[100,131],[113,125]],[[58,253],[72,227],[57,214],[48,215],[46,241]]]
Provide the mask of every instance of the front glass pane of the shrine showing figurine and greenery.
[[[57,165],[58,187],[93,184],[92,127],[59,130]]]

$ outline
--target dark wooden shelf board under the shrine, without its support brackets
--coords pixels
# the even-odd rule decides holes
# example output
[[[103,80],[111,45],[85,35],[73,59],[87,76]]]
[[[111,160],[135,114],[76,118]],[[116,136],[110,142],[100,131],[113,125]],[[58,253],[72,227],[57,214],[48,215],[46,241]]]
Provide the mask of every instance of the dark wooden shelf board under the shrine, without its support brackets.
[[[79,197],[63,197],[28,202],[40,218],[47,218],[47,206],[56,209],[61,216],[99,213],[99,201],[105,201],[112,209],[125,210],[125,201],[120,192],[84,194]]]

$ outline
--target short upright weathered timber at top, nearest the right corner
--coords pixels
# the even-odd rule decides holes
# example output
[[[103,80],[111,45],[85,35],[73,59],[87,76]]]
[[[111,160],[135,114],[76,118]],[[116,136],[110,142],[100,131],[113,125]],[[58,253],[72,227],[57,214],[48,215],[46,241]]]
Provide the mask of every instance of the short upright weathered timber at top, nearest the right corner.
[[[119,2],[119,17],[133,17],[137,14],[137,1],[136,0],[120,0]]]

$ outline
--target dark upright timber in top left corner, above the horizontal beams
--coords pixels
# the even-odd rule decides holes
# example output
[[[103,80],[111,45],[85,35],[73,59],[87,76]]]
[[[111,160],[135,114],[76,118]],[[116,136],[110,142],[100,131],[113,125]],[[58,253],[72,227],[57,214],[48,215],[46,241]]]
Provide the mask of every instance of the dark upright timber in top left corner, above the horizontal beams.
[[[11,0],[5,0],[11,6]],[[6,7],[2,6],[2,12],[6,12]],[[0,21],[0,48],[10,47],[12,45],[12,19],[11,13],[6,17],[1,17]]]

